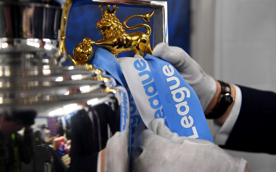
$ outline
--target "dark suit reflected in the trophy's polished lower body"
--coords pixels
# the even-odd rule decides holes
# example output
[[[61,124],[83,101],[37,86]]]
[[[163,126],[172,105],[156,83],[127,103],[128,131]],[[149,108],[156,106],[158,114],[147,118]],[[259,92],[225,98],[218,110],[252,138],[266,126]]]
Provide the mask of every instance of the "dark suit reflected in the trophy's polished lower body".
[[[120,108],[114,106],[117,104],[99,104],[71,117],[70,171],[97,171],[98,152],[108,140],[108,124],[113,134],[120,129]]]

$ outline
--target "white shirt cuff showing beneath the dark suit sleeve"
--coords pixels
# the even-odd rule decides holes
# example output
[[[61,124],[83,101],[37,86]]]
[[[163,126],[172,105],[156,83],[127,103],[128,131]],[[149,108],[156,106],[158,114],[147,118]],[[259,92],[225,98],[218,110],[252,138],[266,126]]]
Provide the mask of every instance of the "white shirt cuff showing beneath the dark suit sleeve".
[[[236,97],[228,118],[221,127],[214,123],[214,130],[217,131],[217,133],[214,135],[214,143],[217,145],[225,145],[239,116],[239,111],[241,108],[241,89],[236,85],[233,86],[236,90]]]

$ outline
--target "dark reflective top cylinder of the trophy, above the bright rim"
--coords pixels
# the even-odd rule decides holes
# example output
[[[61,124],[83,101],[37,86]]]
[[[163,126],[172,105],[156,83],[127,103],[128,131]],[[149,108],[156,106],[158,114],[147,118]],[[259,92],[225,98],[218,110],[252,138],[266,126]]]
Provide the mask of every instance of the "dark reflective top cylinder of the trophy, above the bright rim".
[[[62,5],[49,1],[0,1],[0,37],[57,39]]]

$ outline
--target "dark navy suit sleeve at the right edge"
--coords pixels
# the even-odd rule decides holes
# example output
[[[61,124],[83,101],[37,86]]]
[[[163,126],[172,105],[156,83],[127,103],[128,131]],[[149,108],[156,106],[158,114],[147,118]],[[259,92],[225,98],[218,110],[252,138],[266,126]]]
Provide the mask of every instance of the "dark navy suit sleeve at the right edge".
[[[276,93],[239,86],[241,109],[222,148],[276,154]]]

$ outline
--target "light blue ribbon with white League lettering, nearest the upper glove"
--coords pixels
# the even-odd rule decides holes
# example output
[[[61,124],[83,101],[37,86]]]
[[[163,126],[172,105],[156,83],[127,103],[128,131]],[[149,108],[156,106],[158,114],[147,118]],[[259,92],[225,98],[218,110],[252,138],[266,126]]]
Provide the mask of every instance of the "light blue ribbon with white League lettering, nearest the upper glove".
[[[204,116],[204,112],[202,110],[202,106],[192,87],[189,84],[187,84],[187,82],[183,79],[183,77],[179,74],[179,72],[170,63],[162,59],[156,58],[150,54],[147,54],[144,57],[144,59],[147,60],[147,63],[149,64],[150,70],[152,72],[155,86],[156,86],[160,101],[162,103],[163,110],[166,116],[166,121],[168,123],[168,127],[170,128],[170,130],[172,132],[176,132],[179,136],[191,136],[194,134],[192,127],[195,127],[198,133],[198,139],[204,139],[204,140],[209,140],[213,142],[209,127],[207,125],[207,122]],[[174,70],[174,74],[171,76],[166,76],[164,72],[162,72],[164,66],[171,66]],[[165,70],[166,70],[165,72],[169,72],[169,73],[171,71],[169,67],[165,68]],[[176,77],[180,82],[178,87],[172,87],[173,85],[177,86],[177,82],[176,82],[177,79],[174,77]],[[172,89],[170,89],[170,87]],[[190,93],[189,98],[187,97],[187,92],[182,91],[183,89],[181,88],[187,88],[189,90],[189,93]],[[176,102],[175,100],[173,100],[172,93],[174,92],[172,91],[175,91],[177,89],[179,89],[179,92],[182,91],[183,93],[185,93],[185,98],[183,100],[180,99],[181,98],[180,93],[175,93],[175,98],[179,98],[181,102]],[[187,102],[187,104],[183,102]],[[186,107],[189,107],[189,110],[186,109],[185,106],[179,107],[181,112],[185,112],[185,110],[188,111],[186,115],[178,114],[177,108],[176,108],[177,104],[179,104],[179,106],[181,104],[183,105],[185,104]],[[189,116],[191,117],[189,118]],[[181,125],[181,119],[183,119],[183,117],[185,118],[185,120],[183,121],[184,123],[183,125],[187,128]],[[190,120],[191,118],[193,120],[193,125],[189,127],[189,125],[191,125],[191,122],[192,122]]]

